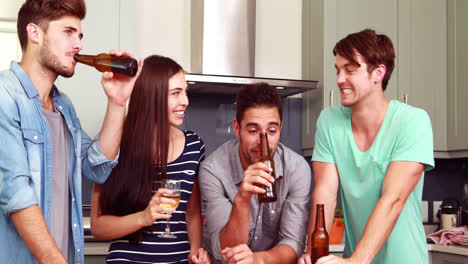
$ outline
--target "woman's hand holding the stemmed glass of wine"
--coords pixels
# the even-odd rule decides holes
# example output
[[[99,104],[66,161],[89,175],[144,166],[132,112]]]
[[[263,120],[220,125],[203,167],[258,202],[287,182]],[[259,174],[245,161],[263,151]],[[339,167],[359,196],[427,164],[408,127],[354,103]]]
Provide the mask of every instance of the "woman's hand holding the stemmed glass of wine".
[[[164,198],[163,194],[170,194],[171,191],[164,188],[159,188],[158,191],[151,197],[151,200],[146,206],[146,209],[142,211],[141,223],[144,226],[150,226],[156,219],[168,219],[171,218],[171,213],[175,211],[174,208],[161,206],[161,204],[176,204],[176,202],[169,198]]]

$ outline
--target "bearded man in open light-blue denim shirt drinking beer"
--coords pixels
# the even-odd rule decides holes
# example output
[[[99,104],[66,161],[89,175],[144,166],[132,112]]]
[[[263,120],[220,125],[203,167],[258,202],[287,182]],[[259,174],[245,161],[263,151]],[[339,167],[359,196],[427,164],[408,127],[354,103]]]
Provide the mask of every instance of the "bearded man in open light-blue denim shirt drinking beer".
[[[116,165],[138,76],[103,74],[107,113],[92,141],[54,85],[74,73],[85,13],[83,0],[27,0],[18,14],[23,57],[0,72],[2,263],[84,263],[81,175],[102,183]]]

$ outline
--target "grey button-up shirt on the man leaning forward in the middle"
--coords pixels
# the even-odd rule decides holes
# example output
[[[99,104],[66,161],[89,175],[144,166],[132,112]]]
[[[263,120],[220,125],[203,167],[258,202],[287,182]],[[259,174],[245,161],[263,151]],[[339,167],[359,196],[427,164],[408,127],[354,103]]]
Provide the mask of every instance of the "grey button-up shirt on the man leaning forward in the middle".
[[[287,244],[299,257],[305,248],[310,212],[311,169],[302,156],[281,143],[273,159],[280,175],[278,200],[261,204],[256,195],[252,196],[248,245],[256,252]],[[226,142],[200,165],[200,192],[205,212],[203,247],[213,257],[213,263],[224,263],[219,232],[229,220],[243,176],[238,140]]]

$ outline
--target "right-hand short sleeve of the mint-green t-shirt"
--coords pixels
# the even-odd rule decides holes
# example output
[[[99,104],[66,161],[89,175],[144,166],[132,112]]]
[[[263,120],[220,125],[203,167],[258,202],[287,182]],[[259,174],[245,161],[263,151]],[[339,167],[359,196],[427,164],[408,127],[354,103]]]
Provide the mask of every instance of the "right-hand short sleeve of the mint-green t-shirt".
[[[415,161],[424,164],[424,170],[434,168],[434,138],[426,111],[409,112],[396,138],[392,161]]]

